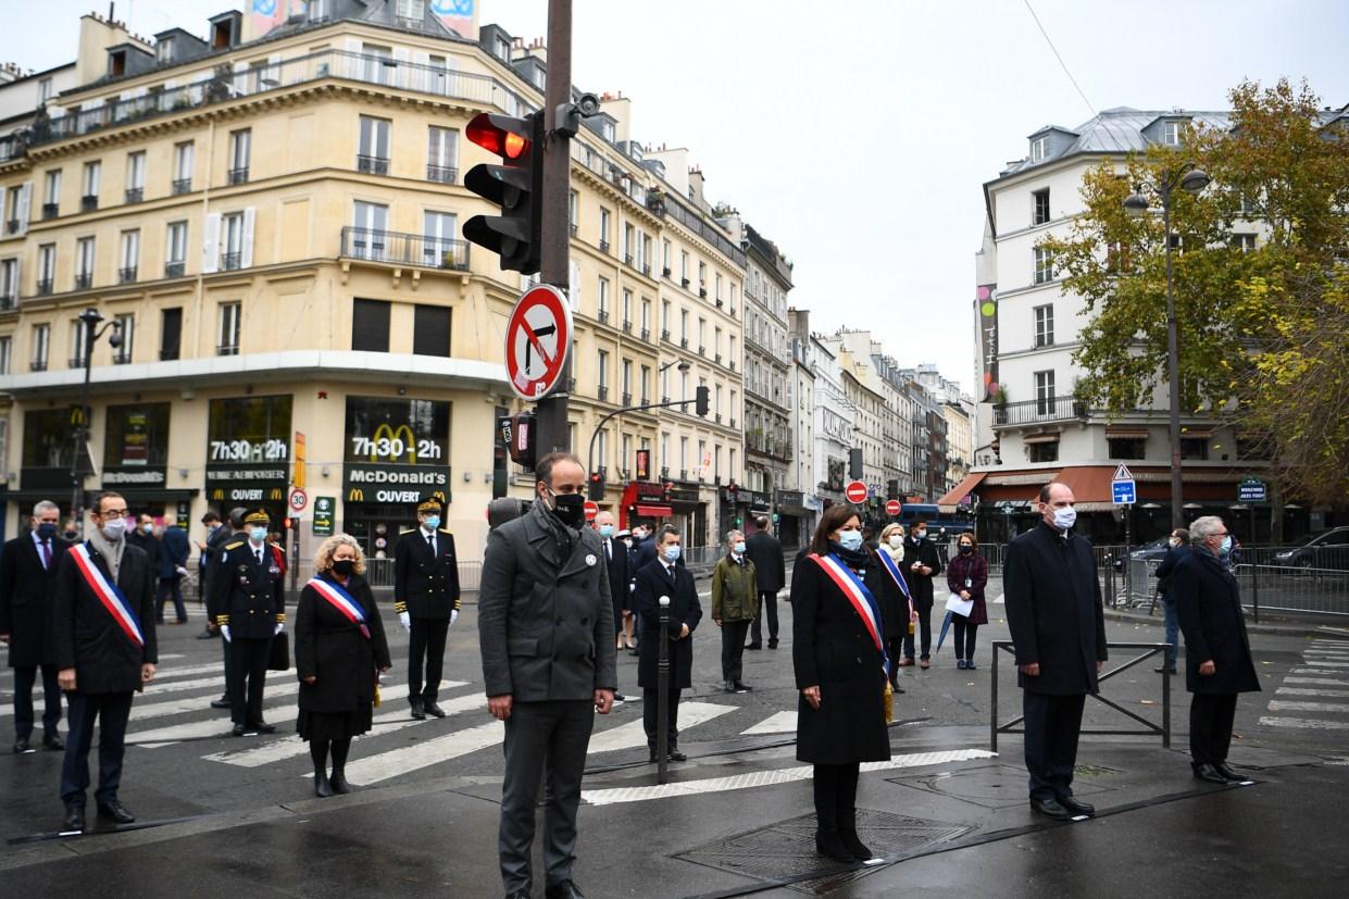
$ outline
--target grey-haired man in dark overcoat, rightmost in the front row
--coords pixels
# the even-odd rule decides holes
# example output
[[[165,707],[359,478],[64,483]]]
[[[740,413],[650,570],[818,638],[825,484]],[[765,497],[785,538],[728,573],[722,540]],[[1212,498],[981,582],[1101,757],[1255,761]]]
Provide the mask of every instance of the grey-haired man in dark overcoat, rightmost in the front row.
[[[1184,680],[1190,699],[1190,765],[1213,783],[1244,778],[1228,767],[1238,692],[1259,692],[1241,593],[1228,567],[1232,537],[1217,516],[1190,525],[1194,551],[1171,575],[1176,617],[1184,632]]]

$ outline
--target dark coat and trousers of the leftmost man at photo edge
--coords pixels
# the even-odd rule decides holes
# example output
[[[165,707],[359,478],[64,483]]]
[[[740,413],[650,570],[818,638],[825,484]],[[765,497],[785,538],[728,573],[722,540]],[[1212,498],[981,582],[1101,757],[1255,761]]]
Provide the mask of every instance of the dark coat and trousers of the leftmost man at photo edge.
[[[51,566],[43,564],[32,532],[8,540],[0,555],[0,633],[9,634],[9,667],[13,668],[13,733],[32,734],[32,686],[42,670],[42,729],[57,736],[61,721],[61,687],[57,686],[57,651],[50,617],[55,574],[70,543],[53,537]]]

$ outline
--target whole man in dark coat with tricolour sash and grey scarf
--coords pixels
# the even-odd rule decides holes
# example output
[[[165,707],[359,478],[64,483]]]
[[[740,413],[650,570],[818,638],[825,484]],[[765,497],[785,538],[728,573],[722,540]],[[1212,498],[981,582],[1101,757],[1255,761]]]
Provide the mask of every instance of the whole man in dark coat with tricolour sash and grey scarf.
[[[146,553],[128,545],[127,501],[100,495],[89,510],[88,540],[71,547],[57,568],[51,633],[57,682],[70,702],[70,734],[61,764],[63,830],[85,823],[89,746],[98,725],[98,817],[113,823],[136,818],[117,799],[127,719],[135,691],[154,680],[155,572]]]

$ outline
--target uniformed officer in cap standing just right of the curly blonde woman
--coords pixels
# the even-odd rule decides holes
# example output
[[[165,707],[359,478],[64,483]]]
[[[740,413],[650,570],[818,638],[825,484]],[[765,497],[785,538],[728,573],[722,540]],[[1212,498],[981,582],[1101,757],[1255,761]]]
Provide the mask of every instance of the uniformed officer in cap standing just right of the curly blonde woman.
[[[403,530],[394,545],[394,611],[411,634],[407,701],[413,718],[428,714],[444,718],[436,695],[445,661],[445,637],[459,617],[459,557],[455,536],[440,526],[438,499],[421,502],[417,521],[420,526]]]

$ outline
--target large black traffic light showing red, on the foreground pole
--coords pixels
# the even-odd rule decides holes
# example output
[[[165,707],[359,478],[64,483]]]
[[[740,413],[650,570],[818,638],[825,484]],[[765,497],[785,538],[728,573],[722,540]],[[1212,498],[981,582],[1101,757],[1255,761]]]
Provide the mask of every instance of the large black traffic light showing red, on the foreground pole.
[[[505,162],[476,165],[464,175],[465,188],[502,209],[465,221],[464,238],[498,254],[502,269],[534,274],[544,219],[544,113],[517,119],[483,112],[464,134]]]

